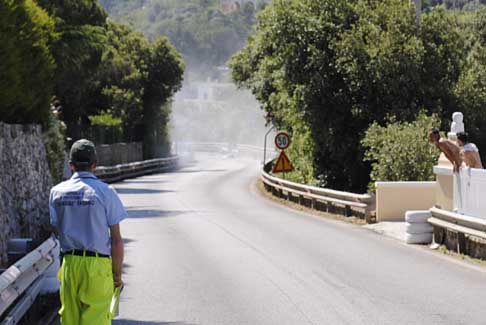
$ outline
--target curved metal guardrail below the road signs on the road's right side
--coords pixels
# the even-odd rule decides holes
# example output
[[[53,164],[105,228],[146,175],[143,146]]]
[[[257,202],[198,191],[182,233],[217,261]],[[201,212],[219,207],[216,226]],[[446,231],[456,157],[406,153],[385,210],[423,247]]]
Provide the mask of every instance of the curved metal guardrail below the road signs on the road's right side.
[[[329,212],[332,209],[342,209],[345,216],[351,216],[353,211],[364,215],[366,222],[374,222],[371,211],[374,207],[374,197],[369,194],[355,194],[336,191],[316,186],[290,182],[270,175],[272,163],[267,164],[261,172],[261,180],[267,190],[276,196],[295,201],[300,205],[309,205],[312,209]],[[308,202],[308,204],[306,204]]]

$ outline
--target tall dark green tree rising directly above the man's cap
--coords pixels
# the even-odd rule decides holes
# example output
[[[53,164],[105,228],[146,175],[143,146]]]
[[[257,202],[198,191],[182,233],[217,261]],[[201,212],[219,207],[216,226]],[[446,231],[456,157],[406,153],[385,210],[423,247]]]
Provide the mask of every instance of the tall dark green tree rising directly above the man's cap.
[[[38,0],[56,21],[60,37],[51,44],[57,63],[55,96],[68,133],[97,113],[94,77],[105,44],[106,13],[97,0]]]

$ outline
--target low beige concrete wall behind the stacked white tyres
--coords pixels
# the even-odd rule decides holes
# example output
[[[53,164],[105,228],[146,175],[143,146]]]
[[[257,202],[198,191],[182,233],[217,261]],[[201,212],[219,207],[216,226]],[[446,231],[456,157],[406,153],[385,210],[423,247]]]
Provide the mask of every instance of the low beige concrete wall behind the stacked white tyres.
[[[436,182],[376,182],[376,221],[405,221],[408,210],[435,204]]]

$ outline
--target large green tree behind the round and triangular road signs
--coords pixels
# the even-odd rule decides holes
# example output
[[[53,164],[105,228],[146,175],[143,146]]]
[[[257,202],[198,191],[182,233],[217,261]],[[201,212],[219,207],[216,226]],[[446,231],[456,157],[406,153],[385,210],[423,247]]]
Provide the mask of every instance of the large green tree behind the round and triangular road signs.
[[[281,128],[307,139],[298,169],[312,166],[323,186],[362,191],[364,132],[387,116],[449,109],[460,40],[457,21],[440,12],[417,28],[407,1],[277,0],[231,68]]]

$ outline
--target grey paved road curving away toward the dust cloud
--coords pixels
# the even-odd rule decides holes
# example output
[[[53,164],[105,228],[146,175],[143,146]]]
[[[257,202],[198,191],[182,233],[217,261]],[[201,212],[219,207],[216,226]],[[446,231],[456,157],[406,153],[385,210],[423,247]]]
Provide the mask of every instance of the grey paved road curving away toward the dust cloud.
[[[117,184],[127,324],[486,324],[486,273],[277,206],[254,161],[200,156]]]

